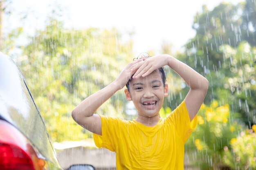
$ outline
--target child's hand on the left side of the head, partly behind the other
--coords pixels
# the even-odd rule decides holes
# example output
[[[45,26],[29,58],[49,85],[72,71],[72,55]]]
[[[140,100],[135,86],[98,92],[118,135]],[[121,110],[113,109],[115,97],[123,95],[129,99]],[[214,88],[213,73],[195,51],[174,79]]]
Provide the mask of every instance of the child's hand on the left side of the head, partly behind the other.
[[[129,79],[132,77],[132,75],[137,71],[136,70],[132,70],[131,68],[139,63],[142,62],[143,59],[137,59],[133,62],[131,62],[130,64],[128,64],[128,66],[126,66],[121,73],[119,74],[119,76],[115,79],[114,83],[116,84],[116,86],[118,87],[119,90],[121,90],[129,81]]]

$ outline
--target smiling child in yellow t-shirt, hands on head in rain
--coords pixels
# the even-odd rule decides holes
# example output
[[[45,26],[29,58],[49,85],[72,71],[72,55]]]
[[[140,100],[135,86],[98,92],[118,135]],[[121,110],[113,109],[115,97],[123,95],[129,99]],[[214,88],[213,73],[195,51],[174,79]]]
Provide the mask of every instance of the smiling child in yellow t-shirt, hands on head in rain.
[[[163,66],[172,68],[190,86],[184,101],[166,118],[159,116],[168,96]],[[137,109],[127,121],[94,114],[122,89]],[[87,97],[72,111],[73,119],[93,132],[97,147],[116,152],[117,170],[183,170],[184,144],[197,125],[197,113],[207,93],[208,81],[171,55],[137,59],[114,82]]]

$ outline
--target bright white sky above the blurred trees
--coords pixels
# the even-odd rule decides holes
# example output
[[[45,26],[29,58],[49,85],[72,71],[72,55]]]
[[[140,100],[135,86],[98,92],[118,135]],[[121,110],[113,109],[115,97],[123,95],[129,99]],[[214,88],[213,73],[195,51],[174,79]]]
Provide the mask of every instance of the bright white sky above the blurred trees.
[[[225,0],[237,4],[241,0]],[[134,53],[154,50],[159,53],[163,41],[180,50],[195,35],[191,28],[193,16],[206,4],[213,9],[222,0],[12,0],[4,29],[23,26],[33,35],[35,29],[43,29],[46,17],[54,7],[62,9],[61,20],[65,27],[116,27],[128,36],[135,32]],[[57,5],[58,4],[58,5]],[[58,12],[60,13],[60,12]],[[24,20],[20,19],[27,15]],[[125,38],[125,37],[124,37]]]

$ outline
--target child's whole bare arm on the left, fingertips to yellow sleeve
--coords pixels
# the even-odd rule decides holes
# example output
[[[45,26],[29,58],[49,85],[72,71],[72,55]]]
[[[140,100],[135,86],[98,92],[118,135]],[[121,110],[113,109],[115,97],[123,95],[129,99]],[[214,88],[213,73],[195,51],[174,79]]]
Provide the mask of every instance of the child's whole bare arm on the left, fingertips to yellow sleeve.
[[[114,82],[101,89],[100,91],[90,95],[83,100],[72,111],[72,117],[79,125],[89,130],[90,132],[101,135],[101,118],[99,115],[94,114],[95,111],[106,102],[114,93],[122,89],[135,71],[131,71],[134,64],[141,62],[142,60],[136,60],[126,66],[121,71],[120,75]]]

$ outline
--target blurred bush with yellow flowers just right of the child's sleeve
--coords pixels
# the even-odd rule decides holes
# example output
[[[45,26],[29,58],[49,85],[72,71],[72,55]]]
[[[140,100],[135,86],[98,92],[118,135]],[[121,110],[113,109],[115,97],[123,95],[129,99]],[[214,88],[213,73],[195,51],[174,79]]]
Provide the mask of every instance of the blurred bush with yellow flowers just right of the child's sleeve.
[[[239,114],[230,110],[228,104],[213,101],[202,104],[198,112],[198,126],[185,144],[195,166],[203,170],[218,168],[222,152],[229,141],[244,128]]]

